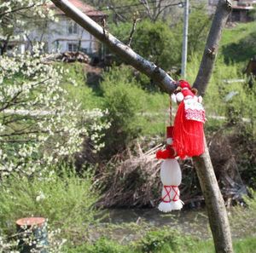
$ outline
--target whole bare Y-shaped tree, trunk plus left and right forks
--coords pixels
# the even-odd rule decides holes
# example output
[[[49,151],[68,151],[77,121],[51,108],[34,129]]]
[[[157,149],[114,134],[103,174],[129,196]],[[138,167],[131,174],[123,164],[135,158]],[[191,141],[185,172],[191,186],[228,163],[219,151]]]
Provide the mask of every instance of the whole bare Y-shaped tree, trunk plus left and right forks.
[[[121,43],[117,38],[106,32],[88,16],[76,9],[67,0],[51,0],[55,6],[61,9],[67,16],[79,23],[85,30],[90,32],[102,43],[105,43],[113,53],[119,55],[126,63],[134,66],[138,71],[145,73],[153,79],[167,93],[171,94],[176,88],[173,79],[154,63],[137,55],[130,47]],[[207,46],[201,60],[200,70],[195,80],[194,87],[204,95],[207,84],[212,75],[214,60],[218,50],[221,32],[230,14],[230,3],[227,0],[219,0],[216,14],[212,21],[212,27],[207,38]],[[205,141],[206,143],[206,141]],[[224,206],[224,199],[218,187],[218,181],[212,168],[211,158],[206,146],[206,152],[200,157],[194,157],[195,168],[201,183],[201,189],[207,204],[207,212],[215,244],[218,253],[232,253],[232,241],[230,225]]]

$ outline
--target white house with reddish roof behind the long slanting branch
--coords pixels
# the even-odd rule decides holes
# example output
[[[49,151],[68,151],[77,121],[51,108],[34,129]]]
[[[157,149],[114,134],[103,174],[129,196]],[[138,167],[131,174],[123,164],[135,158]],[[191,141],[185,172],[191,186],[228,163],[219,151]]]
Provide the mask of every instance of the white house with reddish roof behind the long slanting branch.
[[[106,17],[101,11],[80,0],[69,0],[69,2],[98,23]],[[24,36],[24,40],[20,44],[21,53],[30,49],[33,42],[44,42],[47,53],[80,50],[91,55],[98,51],[99,43],[95,37],[68,18],[60,9],[56,9],[53,3],[49,5],[49,8],[55,9],[55,15],[59,21],[47,20],[44,24],[35,25],[35,28]]]

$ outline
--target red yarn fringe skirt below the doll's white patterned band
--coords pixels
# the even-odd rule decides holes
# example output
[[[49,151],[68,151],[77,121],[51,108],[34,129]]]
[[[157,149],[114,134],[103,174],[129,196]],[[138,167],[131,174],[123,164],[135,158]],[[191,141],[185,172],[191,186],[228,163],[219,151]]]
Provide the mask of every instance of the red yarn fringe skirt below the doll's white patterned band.
[[[184,101],[178,106],[174,120],[173,147],[182,159],[205,152],[203,123],[185,118]]]

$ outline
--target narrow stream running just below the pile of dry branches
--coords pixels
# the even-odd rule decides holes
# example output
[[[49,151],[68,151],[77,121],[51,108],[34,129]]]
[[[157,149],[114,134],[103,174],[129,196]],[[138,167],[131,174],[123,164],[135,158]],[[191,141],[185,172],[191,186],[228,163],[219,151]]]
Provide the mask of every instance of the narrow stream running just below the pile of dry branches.
[[[181,233],[192,235],[201,239],[212,237],[205,209],[180,210],[169,214],[161,213],[155,209],[110,209],[108,217],[102,224],[119,225],[113,231],[113,237],[121,240],[133,240],[140,237],[134,234],[129,224],[137,224],[148,227],[167,226],[179,230]],[[240,239],[255,237],[256,216],[255,211],[245,208],[228,210],[232,237]]]

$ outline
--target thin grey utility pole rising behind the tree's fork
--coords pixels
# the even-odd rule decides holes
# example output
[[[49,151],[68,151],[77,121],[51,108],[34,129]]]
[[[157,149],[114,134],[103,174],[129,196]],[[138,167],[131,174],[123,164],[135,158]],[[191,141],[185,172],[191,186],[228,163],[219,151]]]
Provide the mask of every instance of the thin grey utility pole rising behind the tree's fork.
[[[183,59],[182,59],[182,78],[186,78],[187,55],[188,55],[188,30],[189,30],[189,0],[184,4],[184,25],[183,25]]]

